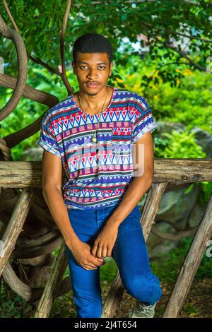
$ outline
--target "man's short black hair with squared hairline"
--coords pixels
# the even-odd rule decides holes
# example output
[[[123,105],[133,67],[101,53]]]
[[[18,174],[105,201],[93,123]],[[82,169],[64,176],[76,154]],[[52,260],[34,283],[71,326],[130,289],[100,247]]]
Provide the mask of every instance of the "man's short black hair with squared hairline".
[[[73,43],[73,62],[76,64],[78,53],[107,53],[109,64],[112,62],[112,45],[107,37],[99,33],[86,33]]]

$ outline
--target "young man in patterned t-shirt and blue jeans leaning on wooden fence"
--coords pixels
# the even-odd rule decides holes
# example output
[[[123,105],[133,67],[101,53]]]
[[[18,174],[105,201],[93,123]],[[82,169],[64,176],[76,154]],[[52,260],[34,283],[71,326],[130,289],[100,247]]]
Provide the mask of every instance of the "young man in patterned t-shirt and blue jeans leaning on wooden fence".
[[[102,316],[100,266],[107,256],[137,300],[129,316],[153,317],[162,292],[151,272],[138,202],[153,183],[156,124],[144,97],[107,85],[112,65],[106,37],[88,33],[74,42],[79,90],[42,119],[43,194],[66,242],[78,317]]]

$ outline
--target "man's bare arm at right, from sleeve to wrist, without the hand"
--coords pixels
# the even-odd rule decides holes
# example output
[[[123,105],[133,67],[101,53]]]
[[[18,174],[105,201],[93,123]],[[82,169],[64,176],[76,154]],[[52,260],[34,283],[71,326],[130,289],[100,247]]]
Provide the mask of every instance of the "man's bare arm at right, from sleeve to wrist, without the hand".
[[[144,134],[134,143],[134,146],[136,150],[136,164],[139,165],[139,174],[141,173],[142,175],[135,176],[129,184],[121,203],[107,220],[107,223],[110,225],[119,226],[153,184],[154,150],[151,132]]]

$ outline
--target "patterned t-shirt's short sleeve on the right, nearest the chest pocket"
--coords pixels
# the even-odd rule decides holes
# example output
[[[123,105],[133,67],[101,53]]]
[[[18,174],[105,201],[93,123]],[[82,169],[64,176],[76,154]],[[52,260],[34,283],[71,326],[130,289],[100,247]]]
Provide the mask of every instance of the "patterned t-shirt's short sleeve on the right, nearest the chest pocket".
[[[133,130],[132,130],[132,142],[141,138],[148,131],[151,133],[156,129],[158,125],[155,124],[153,118],[152,110],[148,105],[148,102],[144,97],[137,95],[136,102],[136,117],[134,120]]]

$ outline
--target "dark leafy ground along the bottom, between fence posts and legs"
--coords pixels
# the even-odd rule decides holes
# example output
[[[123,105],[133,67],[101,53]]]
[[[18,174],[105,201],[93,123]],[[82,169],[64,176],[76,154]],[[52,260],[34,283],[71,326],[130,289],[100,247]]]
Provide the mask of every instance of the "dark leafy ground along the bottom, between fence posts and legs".
[[[102,304],[110,290],[108,281],[104,280],[102,283]],[[155,307],[155,317],[163,317],[163,312],[170,298],[173,285],[170,283],[161,282],[163,297]],[[10,287],[4,283],[6,294],[1,295],[1,317],[34,317],[35,306],[31,306],[24,300],[11,291]],[[2,301],[3,300],[3,301]],[[127,318],[130,310],[134,307],[136,299],[131,297],[126,290],[120,303],[117,313],[114,318]],[[76,309],[73,302],[73,292],[69,291],[61,297],[57,297],[54,301],[49,318],[76,318]],[[195,280],[187,295],[181,312],[178,317],[182,318],[211,318],[212,317],[212,279],[204,278],[202,280]]]

